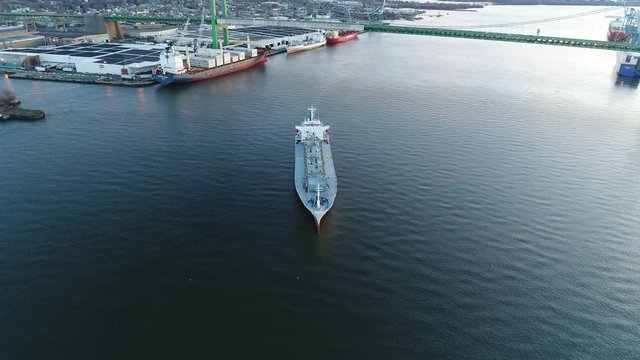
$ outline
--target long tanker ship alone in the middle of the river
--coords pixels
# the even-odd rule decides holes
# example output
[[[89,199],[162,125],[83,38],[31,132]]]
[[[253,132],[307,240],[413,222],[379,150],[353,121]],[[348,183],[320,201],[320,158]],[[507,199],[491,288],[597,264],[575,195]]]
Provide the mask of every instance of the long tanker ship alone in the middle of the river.
[[[316,109],[308,109],[307,118],[296,126],[294,181],[300,201],[315,219],[320,221],[331,209],[338,191],[338,179],[333,167],[329,126],[316,118]]]

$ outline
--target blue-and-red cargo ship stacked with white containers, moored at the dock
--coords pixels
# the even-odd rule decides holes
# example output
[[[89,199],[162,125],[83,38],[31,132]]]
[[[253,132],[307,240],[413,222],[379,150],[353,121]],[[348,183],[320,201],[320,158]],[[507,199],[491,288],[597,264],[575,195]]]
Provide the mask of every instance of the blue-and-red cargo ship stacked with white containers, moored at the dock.
[[[153,79],[163,85],[187,83],[246,70],[267,61],[267,55],[258,55],[255,49],[224,52],[200,49],[195,54],[184,55],[174,46],[160,53],[160,66],[154,70]]]

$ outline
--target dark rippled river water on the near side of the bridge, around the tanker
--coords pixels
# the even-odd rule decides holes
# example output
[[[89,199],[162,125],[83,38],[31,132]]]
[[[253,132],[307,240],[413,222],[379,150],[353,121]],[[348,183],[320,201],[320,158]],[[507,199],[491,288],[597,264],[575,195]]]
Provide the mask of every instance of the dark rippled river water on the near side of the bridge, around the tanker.
[[[638,358],[615,57],[365,34],[174,88],[2,79],[47,118],[0,123],[0,358]],[[310,105],[320,235],[293,185]]]

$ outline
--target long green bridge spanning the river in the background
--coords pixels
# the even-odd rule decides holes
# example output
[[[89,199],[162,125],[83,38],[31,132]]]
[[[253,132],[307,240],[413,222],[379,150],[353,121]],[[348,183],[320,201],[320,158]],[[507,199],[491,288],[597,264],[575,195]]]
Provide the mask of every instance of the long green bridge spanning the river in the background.
[[[74,15],[74,14],[51,14],[51,13],[0,13],[0,21],[24,21],[24,22],[73,22],[73,23],[85,23],[87,19],[94,18],[95,16]],[[196,17],[158,17],[158,16],[120,16],[120,15],[105,15],[103,18],[105,22],[113,24],[114,22],[127,21],[127,22],[157,22],[164,24],[184,24],[187,19],[190,21],[197,21]],[[267,19],[235,19],[235,18],[211,18],[208,17],[207,21],[211,21],[216,24],[217,27],[228,28],[229,25],[237,26],[285,26],[285,27],[302,27],[312,29],[340,29],[340,30],[356,30],[367,32],[382,32],[382,33],[394,33],[394,34],[409,34],[409,35],[426,35],[426,36],[441,36],[451,38],[465,38],[465,39],[478,39],[478,40],[494,40],[494,41],[508,41],[519,42],[529,44],[545,44],[556,46],[570,46],[581,47],[591,49],[605,49],[605,50],[627,50],[627,51],[640,51],[640,44],[631,44],[626,42],[609,42],[599,40],[588,39],[573,39],[573,38],[561,38],[552,36],[538,36],[538,35],[522,35],[522,34],[510,34],[510,33],[497,33],[497,32],[485,32],[485,31],[472,31],[472,30],[457,30],[452,28],[432,28],[432,27],[414,27],[414,26],[393,26],[376,23],[361,24],[357,22],[322,22],[322,21],[303,21],[303,20],[267,20]],[[107,26],[109,27],[109,26]],[[604,30],[603,30],[604,31]]]

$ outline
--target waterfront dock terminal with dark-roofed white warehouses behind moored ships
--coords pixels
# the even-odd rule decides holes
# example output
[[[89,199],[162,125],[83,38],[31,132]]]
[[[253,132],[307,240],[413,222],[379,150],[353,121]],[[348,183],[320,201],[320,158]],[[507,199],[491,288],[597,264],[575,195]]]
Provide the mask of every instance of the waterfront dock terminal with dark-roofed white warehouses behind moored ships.
[[[155,84],[153,73],[160,66],[160,54],[167,46],[195,53],[196,48],[217,45],[202,36],[203,30],[203,24],[185,26],[181,31],[158,33],[153,42],[79,42],[2,49],[0,74],[18,79],[148,86]],[[291,44],[317,36],[323,36],[323,32],[295,27],[242,27],[229,31],[231,45],[223,51],[233,53],[249,48],[283,52]]]

